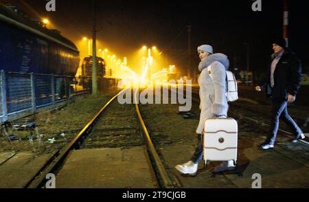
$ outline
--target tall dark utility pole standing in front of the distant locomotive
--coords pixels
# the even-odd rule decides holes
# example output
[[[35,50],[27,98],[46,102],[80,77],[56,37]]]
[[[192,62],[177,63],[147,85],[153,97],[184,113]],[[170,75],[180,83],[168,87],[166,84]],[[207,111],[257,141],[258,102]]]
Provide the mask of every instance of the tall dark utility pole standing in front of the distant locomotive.
[[[92,29],[92,95],[95,96],[98,91],[97,81],[97,46],[96,46],[96,17],[95,17],[95,0],[92,0],[93,12],[93,29]]]

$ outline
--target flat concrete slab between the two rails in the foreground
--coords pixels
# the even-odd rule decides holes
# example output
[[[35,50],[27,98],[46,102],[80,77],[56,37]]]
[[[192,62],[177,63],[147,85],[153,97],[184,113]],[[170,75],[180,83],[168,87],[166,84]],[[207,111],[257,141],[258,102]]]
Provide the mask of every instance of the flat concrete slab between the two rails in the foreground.
[[[157,188],[146,148],[73,150],[56,176],[56,188]]]

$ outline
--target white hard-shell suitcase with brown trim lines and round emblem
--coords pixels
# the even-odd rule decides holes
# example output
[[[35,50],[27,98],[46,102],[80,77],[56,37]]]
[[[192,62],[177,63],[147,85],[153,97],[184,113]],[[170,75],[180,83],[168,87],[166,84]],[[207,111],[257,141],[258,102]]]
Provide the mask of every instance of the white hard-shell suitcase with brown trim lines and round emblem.
[[[209,118],[204,125],[204,161],[237,162],[238,125],[233,118]]]

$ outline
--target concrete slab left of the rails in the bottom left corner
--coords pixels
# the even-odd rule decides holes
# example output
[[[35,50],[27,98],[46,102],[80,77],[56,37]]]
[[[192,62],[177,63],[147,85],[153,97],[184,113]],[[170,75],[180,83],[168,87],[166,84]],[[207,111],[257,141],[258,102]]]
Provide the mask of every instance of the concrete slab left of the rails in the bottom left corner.
[[[23,188],[51,155],[36,157],[31,152],[14,155],[0,166],[0,188]]]

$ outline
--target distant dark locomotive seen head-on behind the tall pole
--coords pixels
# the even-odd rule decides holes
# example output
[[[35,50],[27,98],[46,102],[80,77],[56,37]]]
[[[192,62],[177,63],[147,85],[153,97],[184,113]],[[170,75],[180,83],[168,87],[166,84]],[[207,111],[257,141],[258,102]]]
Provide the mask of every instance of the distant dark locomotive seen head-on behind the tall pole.
[[[97,57],[98,76],[105,76],[105,61],[103,58]],[[82,60],[82,76],[92,76],[92,56]]]

